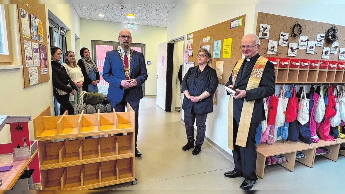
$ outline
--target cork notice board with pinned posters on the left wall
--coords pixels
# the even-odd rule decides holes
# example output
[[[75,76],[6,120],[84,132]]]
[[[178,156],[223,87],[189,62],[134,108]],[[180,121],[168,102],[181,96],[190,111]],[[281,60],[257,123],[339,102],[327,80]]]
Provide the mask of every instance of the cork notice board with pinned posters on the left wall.
[[[50,79],[45,5],[18,5],[18,21],[23,87],[27,88]]]

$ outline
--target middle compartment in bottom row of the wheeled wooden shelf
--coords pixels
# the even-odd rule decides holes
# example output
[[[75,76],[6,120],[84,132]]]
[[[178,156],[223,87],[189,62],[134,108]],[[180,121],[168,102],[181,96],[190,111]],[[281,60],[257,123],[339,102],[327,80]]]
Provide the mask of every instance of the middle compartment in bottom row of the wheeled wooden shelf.
[[[100,163],[91,163],[82,165],[80,174],[81,186],[97,184],[101,182]]]

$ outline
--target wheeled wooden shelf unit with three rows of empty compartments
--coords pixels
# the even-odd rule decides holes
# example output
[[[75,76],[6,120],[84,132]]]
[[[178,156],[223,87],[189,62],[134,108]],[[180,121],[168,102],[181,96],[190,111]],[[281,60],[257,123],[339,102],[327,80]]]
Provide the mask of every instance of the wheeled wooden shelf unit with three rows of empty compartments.
[[[91,189],[135,178],[135,112],[50,116],[34,119],[42,189]],[[109,134],[127,133],[111,136]],[[104,137],[85,139],[86,136]],[[108,136],[107,136],[108,135]],[[75,140],[70,140],[75,138]],[[65,139],[65,141],[57,141]]]

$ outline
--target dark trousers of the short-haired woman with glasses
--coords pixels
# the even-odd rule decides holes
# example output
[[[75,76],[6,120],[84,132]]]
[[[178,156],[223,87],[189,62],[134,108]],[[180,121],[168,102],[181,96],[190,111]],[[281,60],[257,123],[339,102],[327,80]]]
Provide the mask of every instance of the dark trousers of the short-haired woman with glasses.
[[[206,114],[193,114],[185,111],[185,125],[187,140],[194,143],[194,121],[196,120],[196,142],[195,145],[203,145],[206,130]]]

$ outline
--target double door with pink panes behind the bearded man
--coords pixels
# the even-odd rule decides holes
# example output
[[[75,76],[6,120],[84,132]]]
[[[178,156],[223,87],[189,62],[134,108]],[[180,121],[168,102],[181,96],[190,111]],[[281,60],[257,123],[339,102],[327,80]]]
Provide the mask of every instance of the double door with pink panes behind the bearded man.
[[[103,93],[103,95],[108,95],[108,88],[109,83],[106,82],[103,79],[103,65],[104,60],[106,58],[106,53],[108,51],[115,50],[117,48],[120,48],[120,42],[114,42],[114,41],[102,41],[102,40],[91,40],[91,54],[92,59],[95,60],[96,65],[98,67],[99,71],[99,83],[98,83],[98,92]],[[132,43],[131,48],[135,51],[141,52],[144,54],[145,58],[145,44],[142,43]],[[145,96],[145,82],[141,85],[143,95]]]

